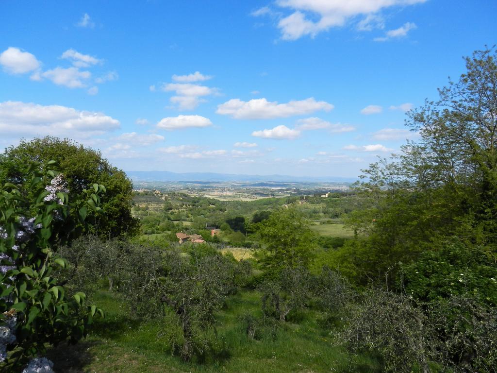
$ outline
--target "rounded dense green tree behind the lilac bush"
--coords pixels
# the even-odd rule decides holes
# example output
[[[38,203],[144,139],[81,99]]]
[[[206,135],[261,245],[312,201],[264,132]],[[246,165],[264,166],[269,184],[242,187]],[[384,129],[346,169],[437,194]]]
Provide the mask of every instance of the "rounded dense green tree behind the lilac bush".
[[[106,193],[100,201],[103,214],[92,219],[90,232],[107,238],[138,232],[138,222],[130,211],[132,184],[126,174],[112,167],[99,152],[71,140],[47,136],[21,140],[17,147],[7,148],[0,155],[0,183],[12,183],[25,193],[30,187],[26,171],[31,163],[50,160],[58,162],[72,195],[78,199],[93,184],[105,185]],[[73,218],[77,219],[76,215]]]

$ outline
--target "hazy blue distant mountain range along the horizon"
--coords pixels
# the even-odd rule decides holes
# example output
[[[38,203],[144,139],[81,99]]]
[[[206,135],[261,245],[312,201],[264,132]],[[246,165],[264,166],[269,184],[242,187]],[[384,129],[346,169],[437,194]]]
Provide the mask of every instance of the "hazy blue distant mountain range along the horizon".
[[[174,173],[168,171],[127,171],[134,181],[154,182],[307,182],[307,183],[353,183],[357,178],[311,177],[286,175],[236,175],[217,173]]]

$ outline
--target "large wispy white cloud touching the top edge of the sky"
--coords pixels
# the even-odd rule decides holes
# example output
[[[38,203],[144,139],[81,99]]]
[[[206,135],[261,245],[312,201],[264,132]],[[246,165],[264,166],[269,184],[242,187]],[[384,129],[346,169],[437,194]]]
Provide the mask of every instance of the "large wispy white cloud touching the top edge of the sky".
[[[358,16],[364,19],[359,22],[359,29],[368,30],[382,26],[379,12],[393,6],[412,5],[426,0],[278,0],[281,7],[290,8],[293,13],[280,19],[278,28],[284,40],[296,40],[302,36],[316,36],[331,27],[340,27]],[[269,9],[261,8],[252,15],[265,15]],[[369,17],[369,18],[368,18]],[[314,20],[318,18],[317,20]],[[404,26],[403,26],[404,27]],[[410,27],[410,26],[408,26]],[[408,30],[409,31],[409,30]],[[402,31],[392,30],[392,37]],[[407,31],[406,31],[407,33]],[[388,33],[387,33],[388,35]]]

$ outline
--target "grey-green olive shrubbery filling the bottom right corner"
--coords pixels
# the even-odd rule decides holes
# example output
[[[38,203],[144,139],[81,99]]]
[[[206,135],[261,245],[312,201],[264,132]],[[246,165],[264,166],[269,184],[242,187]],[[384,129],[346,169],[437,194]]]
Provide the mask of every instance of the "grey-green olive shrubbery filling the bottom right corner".
[[[369,290],[342,334],[353,351],[380,355],[386,372],[494,372],[497,312],[470,294],[426,303]]]

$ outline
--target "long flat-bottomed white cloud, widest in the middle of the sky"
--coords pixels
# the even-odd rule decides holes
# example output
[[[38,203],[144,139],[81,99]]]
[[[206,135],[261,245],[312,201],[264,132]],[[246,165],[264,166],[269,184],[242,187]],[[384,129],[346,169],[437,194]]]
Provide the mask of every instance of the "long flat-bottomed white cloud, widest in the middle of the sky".
[[[314,97],[288,103],[270,102],[265,98],[256,98],[249,101],[233,98],[218,105],[216,112],[222,115],[230,115],[235,119],[271,119],[309,114],[317,110],[330,111],[332,108],[331,103],[316,101]]]

